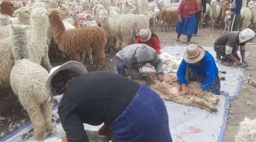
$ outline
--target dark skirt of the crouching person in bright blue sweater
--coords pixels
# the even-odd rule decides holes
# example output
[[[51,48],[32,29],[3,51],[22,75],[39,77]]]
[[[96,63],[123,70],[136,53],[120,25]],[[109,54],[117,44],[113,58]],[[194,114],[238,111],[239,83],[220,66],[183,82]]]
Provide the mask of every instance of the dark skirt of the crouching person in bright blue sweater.
[[[201,74],[198,74],[197,72],[189,68],[189,80],[202,83],[205,80],[205,77],[201,76]],[[207,89],[207,92],[212,92],[213,94],[220,94],[220,78],[218,75],[215,76],[214,82],[212,83],[212,86]]]

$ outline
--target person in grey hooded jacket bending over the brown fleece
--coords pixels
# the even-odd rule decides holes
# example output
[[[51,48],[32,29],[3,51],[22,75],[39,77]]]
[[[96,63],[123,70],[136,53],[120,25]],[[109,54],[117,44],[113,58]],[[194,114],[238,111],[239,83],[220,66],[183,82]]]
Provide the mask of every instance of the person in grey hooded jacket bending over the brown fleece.
[[[162,60],[156,50],[146,44],[131,44],[117,53],[117,72],[125,77],[144,78],[139,69],[150,63],[156,70],[158,80],[164,80]],[[128,73],[128,74],[127,74]]]

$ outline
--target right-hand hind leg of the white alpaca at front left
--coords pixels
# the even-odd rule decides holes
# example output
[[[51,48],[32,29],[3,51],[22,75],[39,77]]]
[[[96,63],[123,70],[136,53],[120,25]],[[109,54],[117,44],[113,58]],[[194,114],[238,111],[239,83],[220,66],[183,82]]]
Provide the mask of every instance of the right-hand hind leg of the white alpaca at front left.
[[[42,104],[42,115],[45,121],[45,131],[46,133],[53,133],[53,123],[52,123],[52,108],[53,104],[44,103]]]

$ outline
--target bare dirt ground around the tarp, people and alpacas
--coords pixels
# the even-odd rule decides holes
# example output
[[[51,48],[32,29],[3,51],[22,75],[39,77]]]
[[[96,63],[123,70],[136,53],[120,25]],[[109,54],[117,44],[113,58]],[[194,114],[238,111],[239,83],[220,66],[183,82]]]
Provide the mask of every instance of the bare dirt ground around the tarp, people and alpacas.
[[[222,35],[222,29],[210,29],[209,27],[199,28],[197,36],[193,37],[191,43],[197,44],[198,46],[213,46],[214,41]],[[255,31],[255,29],[254,29]],[[176,37],[177,34],[175,29],[168,29],[168,31],[161,31],[160,26],[156,25],[154,31],[158,35],[160,40],[160,44],[162,47],[172,45],[177,43]],[[185,42],[187,36],[181,36],[180,40]],[[180,44],[182,44],[180,42]],[[101,70],[108,70],[111,72],[115,72],[115,54],[117,52],[106,52],[106,58],[104,60],[104,65]],[[256,51],[255,48],[251,46],[247,46],[247,53],[249,56],[247,61],[249,65],[253,68],[256,68]],[[213,55],[216,56],[216,55]],[[67,62],[69,58],[63,58],[61,54],[56,55],[53,52],[49,52],[49,58],[52,66],[58,66],[59,64],[63,64]],[[96,58],[94,56],[94,62],[96,62]],[[88,60],[84,63],[88,72],[96,70],[94,66],[89,64]],[[251,81],[255,79],[255,70],[245,70],[244,76],[251,76]],[[238,123],[243,121],[245,117],[249,119],[256,119],[256,95],[255,95],[255,87],[247,84],[247,80],[244,80],[241,85],[241,90],[238,94],[238,98],[236,100],[230,100],[230,114],[228,115],[228,121],[226,124],[226,129],[224,133],[224,142],[234,141],[234,136],[237,135],[239,126]],[[236,86],[234,86],[236,89]],[[222,90],[225,90],[222,88]],[[22,125],[28,123],[30,121],[28,114],[22,108],[20,102],[18,101],[17,96],[13,94],[11,88],[0,90],[0,116],[5,117],[5,120],[1,121],[0,117],[0,139],[3,139],[11,132],[16,129],[22,127]]]

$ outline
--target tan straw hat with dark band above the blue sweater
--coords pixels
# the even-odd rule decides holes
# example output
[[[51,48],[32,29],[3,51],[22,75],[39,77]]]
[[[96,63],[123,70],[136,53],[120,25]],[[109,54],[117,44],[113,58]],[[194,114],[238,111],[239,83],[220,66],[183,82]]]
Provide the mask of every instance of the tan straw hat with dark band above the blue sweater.
[[[198,47],[195,44],[189,44],[189,46],[187,46],[187,51],[184,54],[184,60],[189,64],[193,64],[199,62],[204,55],[205,50],[203,48]]]

